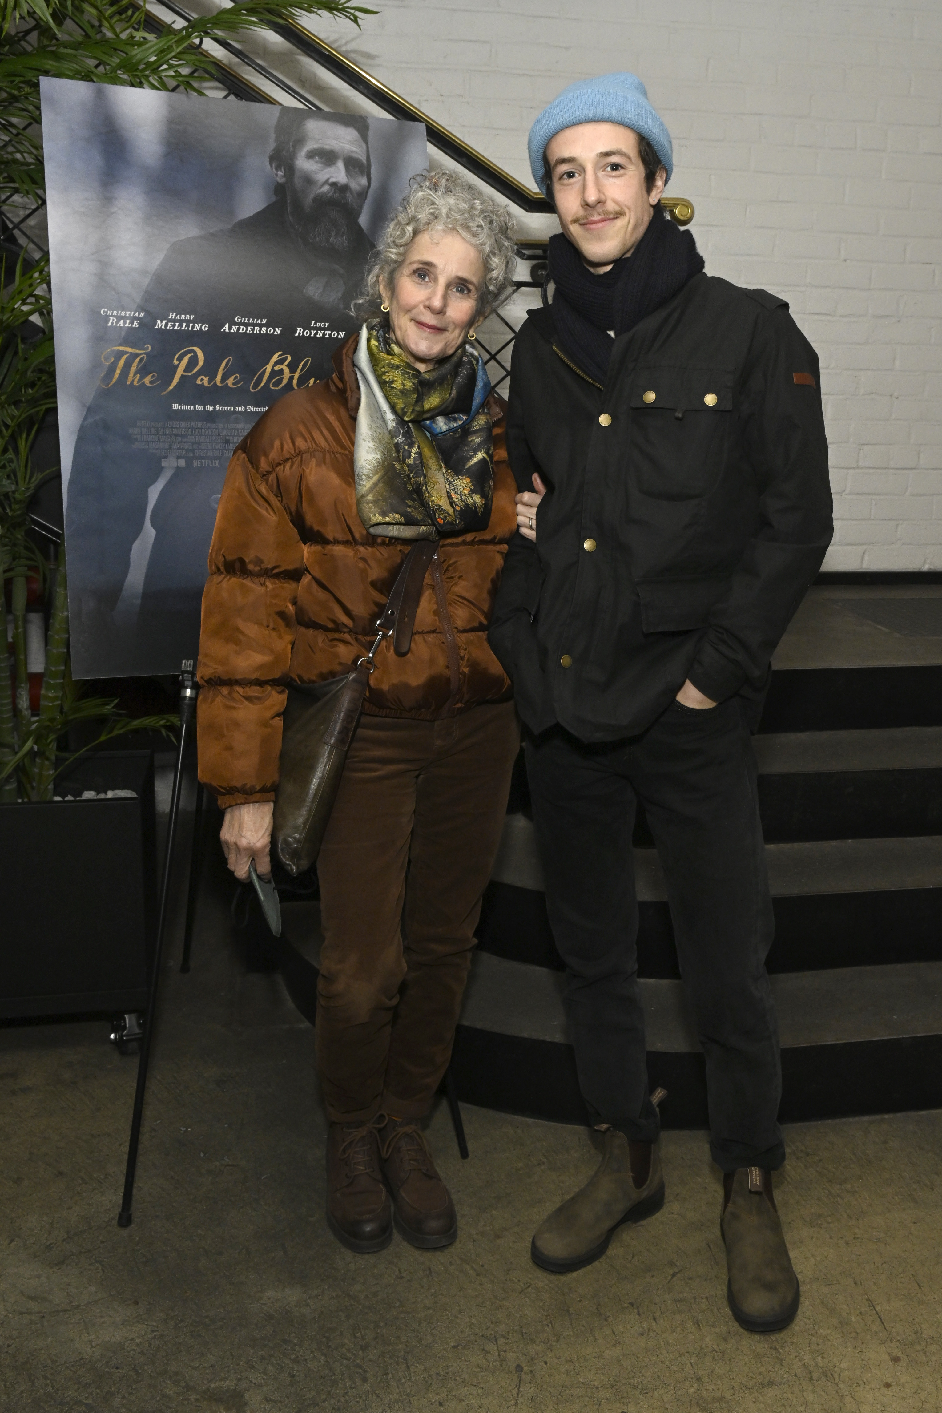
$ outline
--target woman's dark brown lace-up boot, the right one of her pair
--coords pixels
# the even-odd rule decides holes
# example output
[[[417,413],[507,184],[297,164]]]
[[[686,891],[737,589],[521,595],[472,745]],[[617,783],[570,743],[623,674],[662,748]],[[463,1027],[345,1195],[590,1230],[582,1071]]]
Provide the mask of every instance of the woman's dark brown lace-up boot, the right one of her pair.
[[[390,1119],[380,1129],[380,1153],[400,1236],[422,1249],[451,1246],[458,1215],[422,1132],[408,1119]]]

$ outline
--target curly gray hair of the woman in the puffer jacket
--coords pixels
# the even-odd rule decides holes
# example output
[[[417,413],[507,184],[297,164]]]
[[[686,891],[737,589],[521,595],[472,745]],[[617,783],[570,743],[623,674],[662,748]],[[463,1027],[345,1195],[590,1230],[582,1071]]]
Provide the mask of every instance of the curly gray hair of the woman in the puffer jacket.
[[[517,233],[514,218],[459,172],[436,168],[410,182],[370,256],[363,294],[353,304],[359,319],[374,318],[384,302],[381,284],[393,287],[408,247],[422,230],[456,230],[477,250],[484,264],[484,287],[477,297],[477,318],[486,318],[514,292]]]

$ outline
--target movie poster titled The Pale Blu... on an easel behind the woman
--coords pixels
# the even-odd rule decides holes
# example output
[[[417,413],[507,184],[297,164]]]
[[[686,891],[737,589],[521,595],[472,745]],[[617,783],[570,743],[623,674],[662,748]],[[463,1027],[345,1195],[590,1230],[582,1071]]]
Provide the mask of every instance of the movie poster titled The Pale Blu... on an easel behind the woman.
[[[195,657],[233,448],[330,374],[421,123],[42,79],[76,677]]]

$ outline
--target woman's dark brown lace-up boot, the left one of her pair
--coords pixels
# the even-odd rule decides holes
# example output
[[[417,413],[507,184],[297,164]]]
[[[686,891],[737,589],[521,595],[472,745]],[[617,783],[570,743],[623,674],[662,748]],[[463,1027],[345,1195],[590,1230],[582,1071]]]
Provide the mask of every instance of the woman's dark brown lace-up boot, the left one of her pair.
[[[367,1253],[393,1241],[393,1207],[380,1173],[377,1129],[370,1123],[332,1123],[328,1130],[328,1226],[347,1248]]]

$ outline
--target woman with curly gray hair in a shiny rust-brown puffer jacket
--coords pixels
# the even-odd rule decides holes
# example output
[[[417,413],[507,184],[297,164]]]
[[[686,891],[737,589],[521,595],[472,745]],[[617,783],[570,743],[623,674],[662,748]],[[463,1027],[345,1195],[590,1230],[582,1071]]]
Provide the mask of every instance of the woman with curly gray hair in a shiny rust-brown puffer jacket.
[[[356,1252],[381,1251],[394,1225],[422,1248],[458,1235],[419,1123],[451,1058],[518,749],[487,646],[514,482],[475,348],[514,263],[504,208],[463,177],[417,177],[333,377],[282,397],[236,449],[209,555],[199,777],[244,879],[253,861],[271,872],[287,684],[347,673],[407,554],[424,552],[318,856],[328,1221]]]

